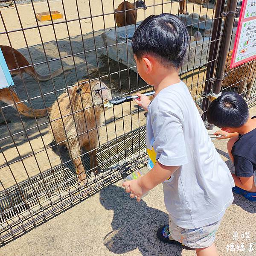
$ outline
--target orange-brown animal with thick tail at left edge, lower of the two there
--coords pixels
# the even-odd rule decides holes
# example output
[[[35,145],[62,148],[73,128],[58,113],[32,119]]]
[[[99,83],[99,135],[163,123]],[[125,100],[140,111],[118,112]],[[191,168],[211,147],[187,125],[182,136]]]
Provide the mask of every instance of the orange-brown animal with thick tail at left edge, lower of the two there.
[[[35,109],[33,113],[32,108],[27,107],[23,102],[21,102],[21,100],[19,99],[15,91],[12,90],[12,87],[3,88],[0,90],[0,100],[5,102],[8,105],[12,105],[12,107],[15,108],[15,110],[18,110],[20,114],[23,116],[32,117],[32,118],[33,117],[41,118],[41,117],[47,116],[46,109]],[[21,102],[21,103],[18,103],[18,102]],[[15,103],[17,103],[16,104],[17,109],[14,105]]]

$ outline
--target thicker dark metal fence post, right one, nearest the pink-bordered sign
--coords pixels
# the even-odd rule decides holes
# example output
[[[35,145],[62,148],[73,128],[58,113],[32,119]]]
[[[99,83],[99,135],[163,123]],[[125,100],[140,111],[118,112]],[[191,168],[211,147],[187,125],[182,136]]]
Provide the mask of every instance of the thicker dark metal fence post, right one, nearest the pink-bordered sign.
[[[215,73],[215,77],[219,79],[216,79],[212,86],[212,92],[216,96],[218,96],[221,92],[221,84],[224,76],[226,58],[228,55],[231,36],[233,32],[236,6],[237,6],[237,1],[229,0],[227,3],[227,12],[224,13],[224,15],[227,15],[227,17],[225,18],[225,21],[224,21],[224,27],[223,27],[220,49],[219,49],[219,58],[217,61],[216,73]]]

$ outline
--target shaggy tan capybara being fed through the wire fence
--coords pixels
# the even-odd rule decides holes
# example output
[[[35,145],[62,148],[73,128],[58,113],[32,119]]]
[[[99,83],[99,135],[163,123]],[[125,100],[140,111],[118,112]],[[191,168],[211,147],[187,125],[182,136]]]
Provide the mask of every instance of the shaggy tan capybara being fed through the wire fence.
[[[96,127],[101,124],[102,100],[111,99],[109,89],[104,83],[95,80],[90,84],[88,80],[82,80],[79,81],[80,89],[76,85],[68,89],[68,92],[62,93],[58,97],[58,102],[52,105],[49,115],[52,125],[52,129],[49,127],[49,132],[53,133],[57,145],[64,145],[69,150],[76,173],[82,183],[85,183],[86,175],[81,162],[80,146],[90,151],[90,167],[98,166],[95,150],[98,146]],[[64,122],[62,122],[61,115]]]

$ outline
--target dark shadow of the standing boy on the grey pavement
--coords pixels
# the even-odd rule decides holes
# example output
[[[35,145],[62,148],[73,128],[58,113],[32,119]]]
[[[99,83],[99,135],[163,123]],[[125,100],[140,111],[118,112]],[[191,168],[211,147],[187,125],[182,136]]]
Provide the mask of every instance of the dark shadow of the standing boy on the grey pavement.
[[[138,248],[146,256],[181,255],[182,248],[157,239],[157,229],[168,223],[165,212],[148,207],[143,200],[137,203],[125,194],[123,188],[115,185],[100,191],[100,202],[105,209],[114,211],[113,231],[104,238],[104,244],[111,252],[121,254]]]

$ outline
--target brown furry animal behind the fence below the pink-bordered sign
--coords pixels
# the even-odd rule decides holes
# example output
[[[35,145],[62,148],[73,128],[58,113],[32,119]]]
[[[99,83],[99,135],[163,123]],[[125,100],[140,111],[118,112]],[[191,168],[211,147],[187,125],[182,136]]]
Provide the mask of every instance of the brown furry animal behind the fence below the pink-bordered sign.
[[[252,86],[252,82],[254,81],[256,61],[249,61],[230,70],[232,53],[233,50],[231,50],[227,56],[227,67],[225,70],[227,76],[224,78],[222,87],[227,87],[229,89],[230,87],[238,87],[237,93],[244,93],[245,96],[247,96],[250,87]]]

